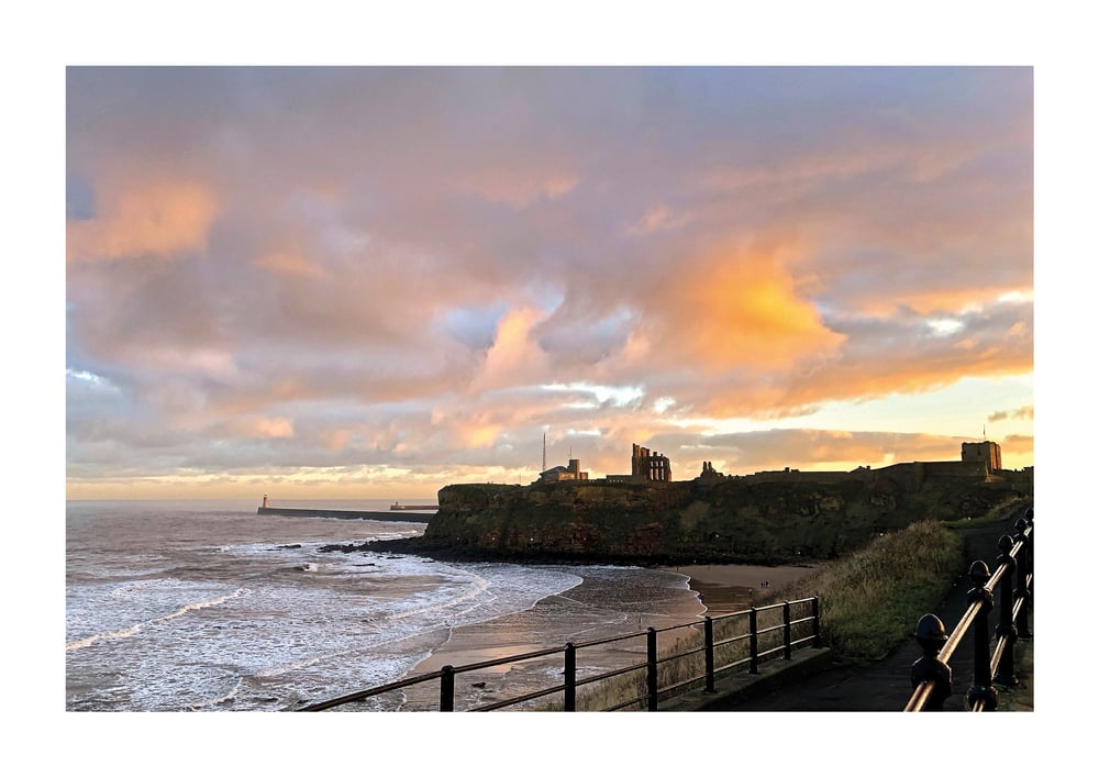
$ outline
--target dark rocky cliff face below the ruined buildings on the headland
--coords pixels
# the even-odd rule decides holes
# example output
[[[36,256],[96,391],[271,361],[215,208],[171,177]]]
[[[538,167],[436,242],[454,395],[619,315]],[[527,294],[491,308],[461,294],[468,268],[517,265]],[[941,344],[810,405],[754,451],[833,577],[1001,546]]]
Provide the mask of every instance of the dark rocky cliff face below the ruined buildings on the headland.
[[[973,478],[912,488],[863,473],[826,482],[804,475],[447,486],[419,544],[467,557],[796,563],[841,555],[912,521],[981,515],[1018,496],[1009,484]]]

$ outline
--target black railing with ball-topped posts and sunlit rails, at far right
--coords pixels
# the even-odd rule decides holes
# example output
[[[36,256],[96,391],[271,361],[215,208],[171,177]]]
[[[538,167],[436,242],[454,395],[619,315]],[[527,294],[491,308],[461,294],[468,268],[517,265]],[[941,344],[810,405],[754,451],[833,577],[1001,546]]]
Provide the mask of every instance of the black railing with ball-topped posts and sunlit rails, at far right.
[[[912,696],[906,712],[940,711],[953,692],[950,661],[970,628],[973,628],[973,685],[966,703],[974,712],[996,709],[996,686],[1019,684],[1014,673],[1014,645],[1020,639],[1031,639],[1029,612],[1034,598],[1034,511],[1014,523],[1015,535],[1000,537],[1000,555],[996,571],[980,560],[969,567],[974,588],[968,607],[954,631],[947,636],[943,622],[925,614],[915,628],[915,640],[923,656],[912,665]],[[1012,580],[1014,578],[1014,582]],[[989,648],[988,618],[993,610],[993,595],[999,588],[1000,611],[996,625],[996,647]]]

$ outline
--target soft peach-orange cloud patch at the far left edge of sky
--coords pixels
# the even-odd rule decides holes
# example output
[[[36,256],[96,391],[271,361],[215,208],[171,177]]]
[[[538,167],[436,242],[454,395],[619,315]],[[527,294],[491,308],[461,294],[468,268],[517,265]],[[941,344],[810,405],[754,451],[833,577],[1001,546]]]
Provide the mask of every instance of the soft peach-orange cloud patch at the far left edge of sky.
[[[171,256],[206,248],[217,198],[193,181],[111,185],[96,192],[97,214],[71,221],[69,262]]]

